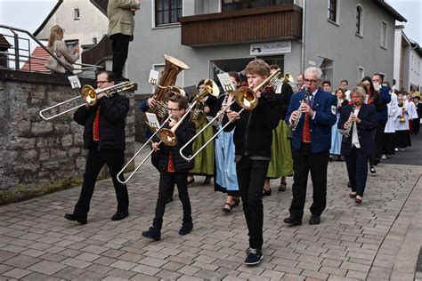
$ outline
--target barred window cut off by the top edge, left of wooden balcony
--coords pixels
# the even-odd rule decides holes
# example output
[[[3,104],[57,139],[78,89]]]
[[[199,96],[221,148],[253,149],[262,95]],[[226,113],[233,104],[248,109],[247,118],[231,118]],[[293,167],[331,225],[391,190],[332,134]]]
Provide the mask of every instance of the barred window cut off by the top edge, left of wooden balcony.
[[[182,0],[156,0],[155,25],[176,23],[182,17]]]

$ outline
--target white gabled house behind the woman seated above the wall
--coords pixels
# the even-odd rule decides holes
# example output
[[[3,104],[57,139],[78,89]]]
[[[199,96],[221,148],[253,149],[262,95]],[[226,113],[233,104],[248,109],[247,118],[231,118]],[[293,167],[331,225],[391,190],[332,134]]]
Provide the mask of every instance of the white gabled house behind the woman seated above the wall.
[[[97,44],[107,34],[109,20],[89,0],[59,0],[34,36],[38,40],[48,40],[54,25],[65,29],[63,40],[69,49],[73,50],[78,43],[82,53],[84,48]],[[77,62],[80,63],[80,59]]]

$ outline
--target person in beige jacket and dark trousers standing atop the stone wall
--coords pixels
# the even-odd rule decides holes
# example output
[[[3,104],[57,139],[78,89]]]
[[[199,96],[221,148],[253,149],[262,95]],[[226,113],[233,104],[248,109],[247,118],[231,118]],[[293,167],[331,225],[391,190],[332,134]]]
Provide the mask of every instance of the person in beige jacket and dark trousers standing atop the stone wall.
[[[134,39],[134,12],[139,9],[141,0],[109,0],[107,17],[109,18],[109,36],[113,41],[113,69],[118,82],[128,81],[123,76],[129,41]]]

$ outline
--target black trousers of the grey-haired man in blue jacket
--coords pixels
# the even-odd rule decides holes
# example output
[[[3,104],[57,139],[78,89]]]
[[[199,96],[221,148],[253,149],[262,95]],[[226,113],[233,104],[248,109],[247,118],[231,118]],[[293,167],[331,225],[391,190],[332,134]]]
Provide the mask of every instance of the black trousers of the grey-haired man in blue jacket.
[[[308,173],[311,171],[313,203],[311,213],[321,215],[327,205],[327,167],[329,151],[312,153],[311,143],[302,143],[301,149],[293,149],[293,199],[288,209],[290,215],[297,219],[304,216],[304,201]]]

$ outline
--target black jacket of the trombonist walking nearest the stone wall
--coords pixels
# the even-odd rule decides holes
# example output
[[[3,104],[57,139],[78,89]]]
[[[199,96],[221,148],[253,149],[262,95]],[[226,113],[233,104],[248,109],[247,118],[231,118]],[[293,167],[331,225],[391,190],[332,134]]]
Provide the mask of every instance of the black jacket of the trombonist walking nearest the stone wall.
[[[93,107],[77,108],[73,119],[85,126],[84,149],[89,149],[93,142],[93,119],[100,108],[100,141],[98,149],[125,149],[126,116],[130,108],[129,99],[118,93],[112,97],[102,97]]]

